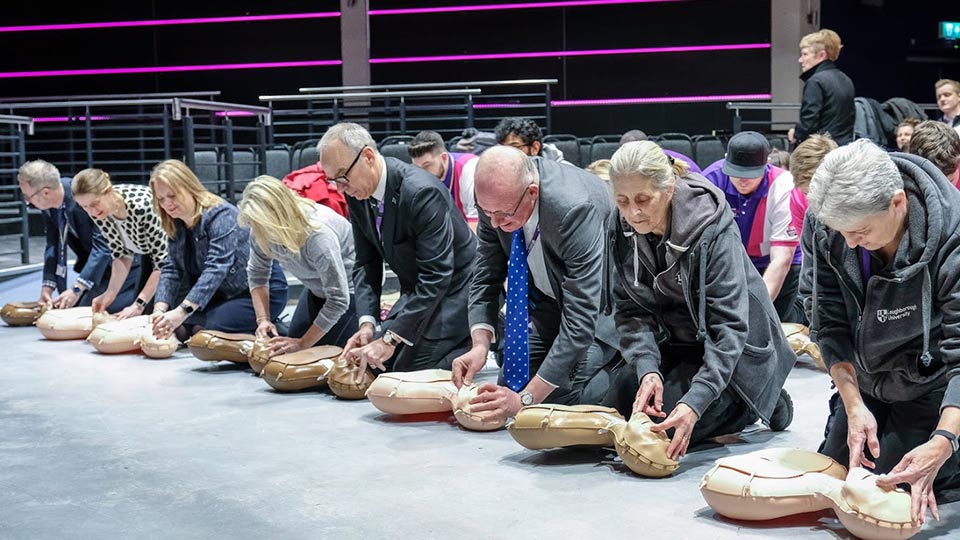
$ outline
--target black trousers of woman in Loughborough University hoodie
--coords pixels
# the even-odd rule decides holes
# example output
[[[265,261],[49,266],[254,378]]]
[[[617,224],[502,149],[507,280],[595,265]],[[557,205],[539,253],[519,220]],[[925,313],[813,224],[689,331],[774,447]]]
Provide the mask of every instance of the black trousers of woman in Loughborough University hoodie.
[[[880,457],[869,449],[864,453],[873,461],[877,474],[890,472],[907,452],[930,439],[940,421],[940,402],[946,388],[930,392],[913,401],[884,403],[862,394],[863,403],[877,421],[877,439],[880,441]],[[824,440],[818,450],[846,467],[850,463],[850,448],[847,446],[847,411],[839,393],[830,398],[830,416],[824,429]],[[937,474],[933,491],[938,503],[960,500],[960,453],[953,454]]]

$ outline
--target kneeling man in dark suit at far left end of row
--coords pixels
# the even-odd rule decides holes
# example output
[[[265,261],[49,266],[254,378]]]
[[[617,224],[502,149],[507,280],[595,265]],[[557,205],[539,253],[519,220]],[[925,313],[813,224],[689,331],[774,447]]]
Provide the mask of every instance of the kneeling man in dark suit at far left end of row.
[[[89,306],[93,298],[102,294],[110,283],[110,263],[113,257],[107,241],[100,234],[90,216],[73,200],[70,179],[61,178],[60,171],[52,164],[38,159],[28,161],[17,175],[23,200],[42,211],[47,230],[47,247],[43,253],[43,285],[40,289],[41,304],[53,308]],[[78,272],[76,282],[67,288],[67,248],[77,256],[73,266]],[[139,262],[134,260],[135,270]],[[133,303],[136,295],[136,276],[131,271],[123,283],[110,313]],[[53,298],[54,291],[60,291]]]

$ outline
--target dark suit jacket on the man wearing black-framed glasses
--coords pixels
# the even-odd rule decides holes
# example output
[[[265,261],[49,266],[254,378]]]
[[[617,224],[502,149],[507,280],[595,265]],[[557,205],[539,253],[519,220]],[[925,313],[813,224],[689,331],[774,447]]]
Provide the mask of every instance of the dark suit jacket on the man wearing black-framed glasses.
[[[450,191],[437,177],[384,157],[387,168],[381,233],[377,233],[377,203],[372,197],[347,197],[356,264],[353,267],[357,314],[380,320],[383,263],[400,281],[400,299],[383,330],[416,343],[469,335],[467,293],[477,253],[474,236]],[[372,203],[372,204],[371,204]],[[404,347],[400,355],[412,354]],[[397,365],[405,361],[395,359]]]

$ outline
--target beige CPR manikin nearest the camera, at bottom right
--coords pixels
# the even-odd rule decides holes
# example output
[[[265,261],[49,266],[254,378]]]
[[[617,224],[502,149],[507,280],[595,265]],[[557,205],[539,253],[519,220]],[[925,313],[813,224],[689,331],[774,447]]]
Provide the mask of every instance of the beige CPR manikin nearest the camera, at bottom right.
[[[827,456],[770,448],[717,460],[700,492],[717,513],[767,520],[832,508],[864,540],[902,540],[920,531],[910,520],[910,495],[884,491],[865,469],[846,469]]]

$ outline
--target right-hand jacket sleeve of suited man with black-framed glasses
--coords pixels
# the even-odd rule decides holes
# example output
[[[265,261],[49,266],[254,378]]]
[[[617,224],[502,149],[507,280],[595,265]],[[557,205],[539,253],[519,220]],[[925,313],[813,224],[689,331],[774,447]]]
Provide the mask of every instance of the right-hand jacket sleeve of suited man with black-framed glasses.
[[[430,324],[453,281],[453,221],[444,194],[439,188],[421,189],[409,211],[401,214],[409,220],[405,226],[416,233],[417,284],[390,330],[413,343]]]

